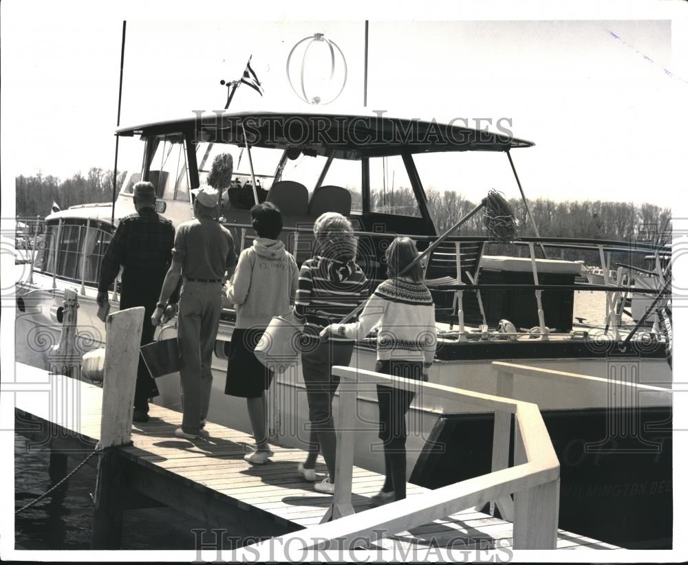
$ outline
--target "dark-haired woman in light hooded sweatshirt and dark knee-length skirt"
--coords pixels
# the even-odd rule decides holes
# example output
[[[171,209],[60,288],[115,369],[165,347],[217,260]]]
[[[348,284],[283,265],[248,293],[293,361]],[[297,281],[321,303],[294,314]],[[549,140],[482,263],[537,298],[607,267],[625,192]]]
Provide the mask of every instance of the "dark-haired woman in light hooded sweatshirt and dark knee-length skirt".
[[[299,267],[277,240],[282,231],[277,206],[271,202],[253,206],[251,223],[258,237],[239,255],[237,269],[226,288],[226,296],[237,310],[237,322],[229,346],[224,392],[246,398],[256,450],[244,459],[262,465],[272,456],[266,432],[265,391],[273,374],[253,351],[272,317],[288,311],[294,302]]]

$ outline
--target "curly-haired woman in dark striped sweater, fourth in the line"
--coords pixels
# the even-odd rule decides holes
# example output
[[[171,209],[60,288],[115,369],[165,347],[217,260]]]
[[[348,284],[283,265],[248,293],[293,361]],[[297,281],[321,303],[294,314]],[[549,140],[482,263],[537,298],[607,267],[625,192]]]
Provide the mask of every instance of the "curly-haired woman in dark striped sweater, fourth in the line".
[[[336,434],[332,420],[332,398],[339,385],[332,366],[348,365],[354,351],[351,339],[321,342],[322,329],[344,318],[368,296],[368,280],[356,265],[356,243],[350,221],[336,212],[316,219],[314,256],[301,265],[294,302],[297,318],[304,323],[301,365],[308,397],[310,445],[308,458],[299,472],[314,481],[315,462],[322,452],[329,477],[316,483],[316,491],[334,492]]]

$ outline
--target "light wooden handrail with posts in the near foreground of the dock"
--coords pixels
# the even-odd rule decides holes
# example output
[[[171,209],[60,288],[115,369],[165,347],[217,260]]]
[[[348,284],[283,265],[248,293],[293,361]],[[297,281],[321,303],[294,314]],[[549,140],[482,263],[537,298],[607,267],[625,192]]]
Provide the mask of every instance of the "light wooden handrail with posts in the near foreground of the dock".
[[[495,367],[502,376],[504,368]],[[361,540],[375,542],[471,507],[497,505],[502,518],[513,521],[514,549],[555,549],[559,521],[559,459],[536,404],[510,395],[486,395],[451,386],[391,377],[357,368],[335,366],[339,385],[339,423],[332,505],[321,524],[297,531],[279,542],[303,549],[354,549]],[[433,395],[471,403],[495,412],[493,461],[489,474],[462,480],[387,505],[354,513],[352,476],[356,441],[356,396],[382,384],[416,395]],[[499,394],[499,392],[498,392]],[[514,429],[514,466],[509,467],[510,422]],[[362,430],[361,430],[362,431]],[[514,495],[513,500],[511,494]],[[331,521],[329,521],[331,520]],[[343,544],[332,547],[334,544]],[[260,544],[255,546],[260,551]]]

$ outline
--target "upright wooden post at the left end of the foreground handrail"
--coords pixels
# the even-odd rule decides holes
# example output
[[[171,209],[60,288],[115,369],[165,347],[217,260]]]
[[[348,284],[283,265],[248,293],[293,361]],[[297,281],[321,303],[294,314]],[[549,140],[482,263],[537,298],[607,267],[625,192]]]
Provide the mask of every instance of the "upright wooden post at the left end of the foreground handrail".
[[[354,474],[357,384],[357,381],[352,381],[348,377],[341,378],[339,383],[339,425],[337,427],[337,458],[334,465],[334,495],[332,505],[323,516],[321,523],[354,513],[354,507],[351,504],[351,484]]]

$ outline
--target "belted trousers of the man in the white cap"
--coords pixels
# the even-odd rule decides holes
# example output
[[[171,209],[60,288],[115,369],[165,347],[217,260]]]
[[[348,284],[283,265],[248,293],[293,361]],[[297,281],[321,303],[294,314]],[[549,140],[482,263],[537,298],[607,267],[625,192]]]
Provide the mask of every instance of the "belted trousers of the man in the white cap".
[[[184,281],[179,300],[180,375],[182,377],[182,429],[198,435],[200,421],[208,416],[213,386],[213,351],[219,315],[222,310],[222,285]]]

